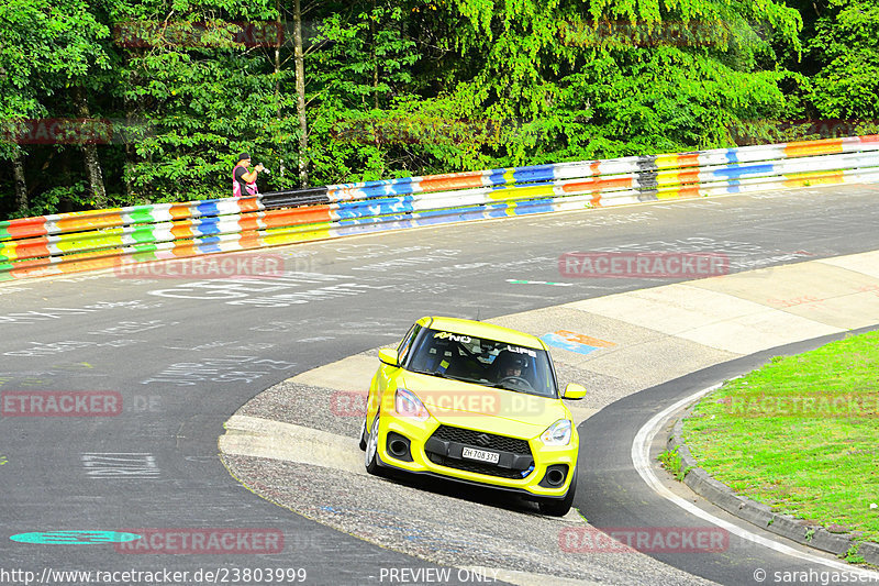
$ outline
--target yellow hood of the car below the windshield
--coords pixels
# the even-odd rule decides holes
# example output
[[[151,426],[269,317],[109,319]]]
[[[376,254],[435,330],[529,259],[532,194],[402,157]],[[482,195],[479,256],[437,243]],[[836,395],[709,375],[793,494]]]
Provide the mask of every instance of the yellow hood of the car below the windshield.
[[[398,383],[447,425],[534,438],[559,419],[571,418],[560,399],[415,373],[405,373]]]

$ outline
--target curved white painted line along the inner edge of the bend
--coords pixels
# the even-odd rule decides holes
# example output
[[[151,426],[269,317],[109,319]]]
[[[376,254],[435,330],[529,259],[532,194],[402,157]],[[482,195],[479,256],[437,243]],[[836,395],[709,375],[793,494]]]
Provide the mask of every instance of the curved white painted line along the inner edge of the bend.
[[[781,554],[789,555],[791,557],[797,557],[804,562],[825,565],[838,572],[849,572],[876,581],[877,578],[876,572],[863,570],[860,567],[845,564],[843,562],[825,560],[824,557],[820,557],[817,555],[813,555],[806,552],[801,552],[794,548],[791,548],[790,545],[786,545],[785,543],[780,543],[772,539],[768,539],[763,535],[753,533],[747,529],[738,527],[735,523],[731,523],[730,521],[725,521],[724,519],[721,519],[719,517],[711,515],[705,510],[702,510],[692,502],[675,495],[674,493],[671,493],[671,490],[669,490],[663,485],[659,478],[654,474],[653,468],[650,466],[650,444],[653,443],[654,436],[656,436],[663,423],[665,423],[665,421],[668,420],[671,413],[674,413],[679,409],[682,409],[685,406],[696,401],[697,399],[708,395],[712,390],[715,390],[720,387],[721,387],[720,384],[713,385],[698,392],[694,392],[689,397],[685,397],[683,399],[669,406],[661,412],[655,414],[649,421],[647,421],[647,423],[644,424],[644,427],[642,427],[638,430],[637,434],[635,435],[635,440],[632,442],[632,463],[634,464],[635,469],[638,472],[642,479],[644,479],[647,486],[649,486],[660,497],[674,502],[675,505],[682,508],[690,515],[694,515],[696,517],[704,519],[710,523],[721,527],[734,535],[737,535],[748,541],[753,541],[754,543],[757,543],[765,548],[769,548],[770,550],[775,550]]]

